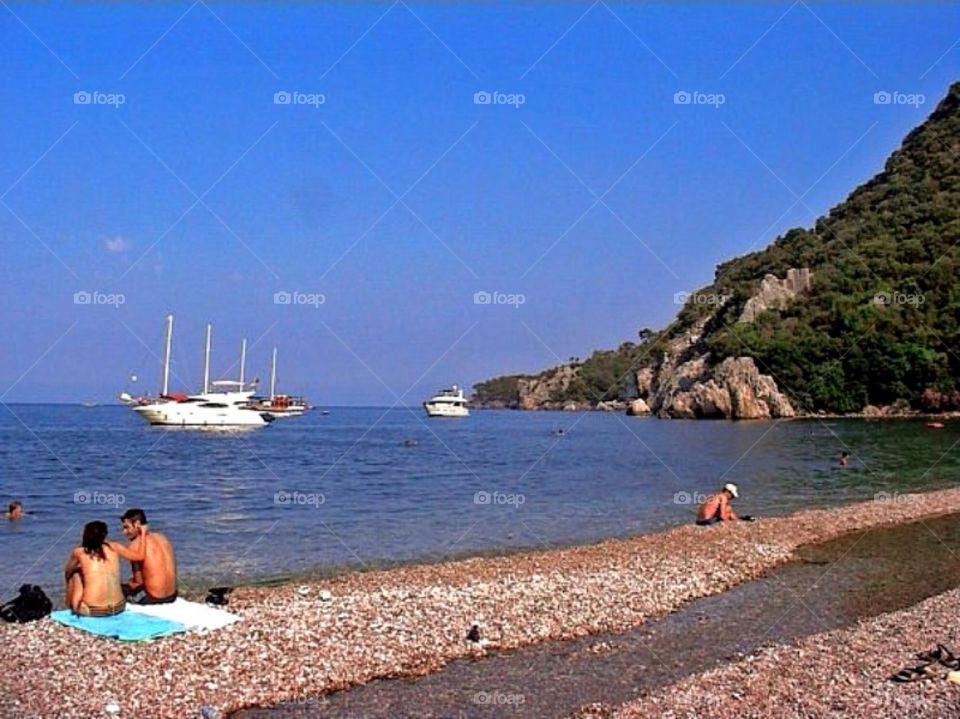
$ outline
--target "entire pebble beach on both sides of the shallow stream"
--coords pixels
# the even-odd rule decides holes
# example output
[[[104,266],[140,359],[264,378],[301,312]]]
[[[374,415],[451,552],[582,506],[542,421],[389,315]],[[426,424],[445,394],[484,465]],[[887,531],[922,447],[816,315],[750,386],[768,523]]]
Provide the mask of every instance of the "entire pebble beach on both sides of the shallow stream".
[[[755,578],[790,561],[801,545],[960,512],[960,489],[913,497],[755,523],[682,526],[582,547],[241,587],[229,595],[228,607],[241,622],[207,635],[144,644],[98,639],[50,620],[5,625],[0,714],[182,717],[207,707],[215,716],[309,702],[374,678],[422,675],[488,651],[624,630]],[[947,607],[956,599],[951,594],[855,629],[811,637],[798,647],[773,648],[677,689],[602,711],[760,716],[782,706],[802,716],[829,715],[834,710],[822,703],[822,682],[846,682],[851,702],[861,701],[858,693],[869,694],[884,710],[902,707],[901,715],[919,711],[921,700],[910,697],[923,692],[937,694],[937,706],[955,709],[945,682],[901,687],[890,695],[889,701],[906,704],[883,703],[887,689],[878,689],[909,662],[911,652],[957,638],[948,627],[953,615]],[[942,624],[927,621],[927,611]],[[480,627],[479,643],[465,641],[473,623]],[[734,685],[738,698],[730,696]],[[787,701],[791,696],[793,703]]]

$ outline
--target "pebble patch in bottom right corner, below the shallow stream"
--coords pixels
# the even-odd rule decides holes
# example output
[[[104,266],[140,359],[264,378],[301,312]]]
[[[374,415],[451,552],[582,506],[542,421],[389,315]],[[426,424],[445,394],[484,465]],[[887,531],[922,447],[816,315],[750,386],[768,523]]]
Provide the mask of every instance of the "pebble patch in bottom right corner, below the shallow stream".
[[[960,685],[935,676],[899,684],[892,674],[922,662],[918,652],[945,644],[960,650],[960,589],[855,627],[824,632],[704,672],[621,707],[585,708],[583,716],[840,717],[948,719],[960,716]]]

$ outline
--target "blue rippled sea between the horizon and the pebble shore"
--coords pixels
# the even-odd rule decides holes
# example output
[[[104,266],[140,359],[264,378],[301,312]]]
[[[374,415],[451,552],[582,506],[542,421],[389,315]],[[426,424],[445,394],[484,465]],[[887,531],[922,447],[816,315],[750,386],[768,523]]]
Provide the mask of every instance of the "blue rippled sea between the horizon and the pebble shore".
[[[696,494],[726,481],[755,515],[948,486],[958,429],[332,408],[216,433],[150,427],[125,407],[4,406],[0,501],[30,516],[0,522],[0,589],[59,592],[83,524],[103,519],[119,539],[130,507],[173,540],[187,583],[228,584],[650,532],[691,521]]]

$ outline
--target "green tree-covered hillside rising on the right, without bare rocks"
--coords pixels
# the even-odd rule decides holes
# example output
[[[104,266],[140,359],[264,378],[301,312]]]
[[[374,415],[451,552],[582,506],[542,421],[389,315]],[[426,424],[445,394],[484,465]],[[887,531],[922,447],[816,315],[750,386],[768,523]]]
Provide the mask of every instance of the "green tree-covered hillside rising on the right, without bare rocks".
[[[753,357],[803,412],[852,412],[899,402],[960,406],[960,83],[904,139],[884,170],[813,228],[721,264],[700,290],[729,297],[688,303],[645,341],[601,351],[573,366],[577,380],[552,399],[620,396],[631,368],[655,364],[665,343],[707,319],[709,361]],[[764,275],[810,268],[813,286],[783,310],[737,322]],[[711,316],[711,313],[715,313]],[[519,375],[476,386],[477,399],[509,404]]]

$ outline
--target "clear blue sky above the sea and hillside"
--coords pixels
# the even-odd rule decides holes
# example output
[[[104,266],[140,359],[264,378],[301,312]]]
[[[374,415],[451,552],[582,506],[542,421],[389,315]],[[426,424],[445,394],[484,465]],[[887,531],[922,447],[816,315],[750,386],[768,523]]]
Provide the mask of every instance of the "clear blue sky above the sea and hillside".
[[[614,347],[878,171],[958,37],[933,5],[13,4],[0,399],[155,390],[168,312],[187,388],[209,321],[215,374],[245,335],[322,404]]]

